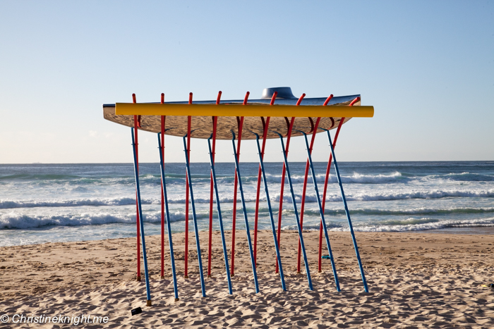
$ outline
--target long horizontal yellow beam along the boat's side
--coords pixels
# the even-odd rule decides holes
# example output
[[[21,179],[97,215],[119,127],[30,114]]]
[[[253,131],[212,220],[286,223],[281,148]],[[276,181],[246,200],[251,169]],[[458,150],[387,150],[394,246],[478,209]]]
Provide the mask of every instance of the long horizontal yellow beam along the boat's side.
[[[116,103],[115,114],[123,116],[311,116],[372,118],[374,116],[374,106]]]

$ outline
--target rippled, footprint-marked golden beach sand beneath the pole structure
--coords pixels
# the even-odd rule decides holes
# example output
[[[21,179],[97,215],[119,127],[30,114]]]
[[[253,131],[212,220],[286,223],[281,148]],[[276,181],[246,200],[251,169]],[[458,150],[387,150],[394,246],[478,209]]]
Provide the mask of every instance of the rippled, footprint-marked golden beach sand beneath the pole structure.
[[[252,234],[253,236],[253,234]],[[255,294],[246,233],[236,231],[233,295],[228,294],[219,232],[213,233],[212,278],[200,294],[197,252],[189,235],[189,278],[183,278],[183,233],[174,234],[179,302],[174,302],[165,237],[160,278],[160,237],[146,237],[152,306],[143,280],[135,281],[135,238],[0,248],[0,328],[65,328],[67,323],[13,323],[24,316],[107,316],[78,328],[494,328],[494,235],[356,232],[369,292],[349,232],[330,232],[339,282],[329,259],[318,273],[318,232],[304,232],[314,290],[296,274],[298,234],[282,232],[287,292],[275,273],[272,232],[258,238]],[[231,232],[227,232],[231,250]],[[207,232],[200,232],[207,273]],[[323,249],[327,254],[327,249]],[[229,257],[231,255],[229,254]],[[140,306],[142,314],[131,316]],[[1,318],[5,320],[5,318]],[[19,321],[19,317],[16,318]]]

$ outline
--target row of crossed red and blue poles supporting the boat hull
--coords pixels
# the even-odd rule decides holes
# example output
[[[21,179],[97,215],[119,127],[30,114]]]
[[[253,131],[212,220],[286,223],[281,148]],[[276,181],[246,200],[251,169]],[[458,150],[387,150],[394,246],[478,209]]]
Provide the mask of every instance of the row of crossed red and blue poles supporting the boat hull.
[[[219,101],[221,99],[221,95],[222,95],[222,92],[219,92],[218,96],[217,96],[216,104],[219,104]],[[249,92],[246,93],[246,97],[243,99],[243,105],[247,105],[248,96],[249,96]],[[305,96],[306,96],[306,94],[302,94],[302,96],[297,101],[296,106],[300,105],[303,97],[305,97]],[[132,97],[133,97],[133,103],[136,103],[135,94],[133,94]],[[193,97],[193,94],[190,93],[189,99],[188,99],[188,104],[192,104],[192,97]],[[272,99],[270,101],[271,106],[273,104],[275,104],[276,97],[277,97],[277,92],[275,92],[272,95]],[[333,97],[333,95],[330,95],[330,97],[327,97],[327,99],[325,100],[323,105],[326,106],[329,103],[329,101],[332,99],[332,97]],[[351,101],[349,106],[353,106],[359,100],[360,100],[360,97],[357,97],[356,99]],[[164,94],[161,95],[161,103],[162,104],[164,103]],[[140,271],[140,244],[142,243],[144,271],[145,271],[145,283],[146,283],[146,294],[147,294],[147,305],[150,306],[151,305],[151,294],[150,294],[150,286],[149,286],[149,275],[147,272],[147,257],[146,257],[146,249],[145,249],[143,211],[142,211],[142,206],[141,206],[141,201],[140,201],[140,188],[139,188],[138,128],[140,128],[140,116],[134,116],[133,119],[134,119],[134,127],[131,128],[131,132],[132,132],[132,146],[133,146],[133,159],[134,159],[134,172],[135,172],[135,197],[136,197],[136,209],[137,209],[137,214],[136,214],[136,217],[137,217],[137,256],[138,256],[137,280],[140,281],[140,273],[141,273],[141,271]],[[287,160],[288,151],[289,151],[289,143],[290,143],[290,138],[291,138],[291,132],[293,131],[295,117],[291,118],[291,120],[289,121],[288,132],[287,132],[286,136],[283,136],[279,132],[275,131],[275,133],[279,136],[279,139],[280,139],[281,144],[282,144],[282,153],[283,153],[283,160],[284,160],[283,161],[283,171],[282,171],[282,181],[281,181],[281,192],[280,192],[280,197],[279,197],[279,212],[278,212],[277,228],[275,227],[275,218],[273,216],[273,211],[272,211],[272,206],[271,206],[271,201],[270,201],[270,196],[269,196],[269,190],[267,187],[264,162],[263,162],[264,151],[265,151],[265,142],[266,142],[267,132],[269,129],[270,117],[261,118],[261,120],[263,121],[262,146],[261,146],[260,140],[259,140],[260,136],[258,134],[256,134],[255,132],[252,132],[256,137],[256,143],[257,143],[258,155],[259,155],[258,185],[257,185],[256,199],[255,199],[255,219],[254,219],[253,242],[251,240],[251,231],[250,231],[249,224],[248,224],[248,216],[247,216],[247,212],[246,212],[245,198],[243,197],[243,187],[242,187],[242,180],[241,180],[240,167],[239,167],[241,137],[242,137],[242,128],[243,128],[243,116],[240,118],[237,118],[237,119],[238,119],[238,124],[239,124],[239,130],[238,130],[238,138],[237,138],[238,142],[236,145],[235,145],[236,135],[235,135],[235,132],[233,130],[231,130],[231,135],[232,135],[231,143],[233,146],[234,159],[235,159],[234,203],[233,203],[234,209],[233,209],[232,230],[231,230],[231,239],[232,239],[231,240],[231,268],[229,267],[227,244],[226,244],[226,240],[224,237],[223,218],[222,218],[221,206],[219,204],[219,195],[218,195],[216,173],[215,173],[215,147],[216,147],[216,132],[217,132],[217,117],[215,117],[215,116],[212,117],[212,134],[210,135],[210,138],[207,139],[207,144],[208,144],[209,154],[210,154],[210,166],[211,166],[207,277],[210,278],[210,276],[211,276],[212,213],[213,213],[213,199],[215,199],[216,200],[216,207],[217,207],[217,214],[218,214],[218,221],[219,221],[219,229],[220,229],[221,237],[222,237],[224,264],[225,264],[225,268],[227,271],[228,289],[229,289],[229,294],[233,293],[232,287],[231,287],[231,276],[234,276],[234,268],[235,268],[234,267],[234,264],[235,264],[234,261],[235,261],[235,232],[236,232],[236,230],[235,230],[235,228],[236,228],[236,196],[237,196],[237,190],[239,190],[240,197],[241,197],[242,209],[243,209],[243,219],[245,221],[245,226],[246,226],[249,254],[251,257],[255,292],[256,293],[259,292],[258,277],[257,277],[257,271],[256,271],[256,266],[257,266],[257,253],[256,252],[257,252],[257,238],[258,238],[258,212],[259,212],[259,199],[260,199],[260,185],[261,185],[261,180],[262,180],[264,182],[264,190],[265,190],[265,194],[266,194],[267,208],[268,208],[269,213],[270,213],[270,223],[271,223],[272,235],[273,235],[273,240],[275,242],[275,249],[276,249],[276,256],[277,256],[276,265],[275,265],[275,273],[279,273],[279,277],[280,277],[280,280],[282,283],[282,288],[283,288],[283,290],[287,290],[285,282],[284,282],[284,274],[283,274],[283,268],[282,268],[281,255],[279,253],[279,245],[280,245],[280,239],[281,239],[281,226],[282,226],[282,206],[283,206],[283,194],[284,194],[284,180],[285,180],[285,177],[287,177],[287,180],[289,183],[289,190],[290,190],[290,194],[291,194],[291,200],[292,200],[292,204],[294,207],[294,213],[295,213],[295,217],[296,217],[297,230],[299,232],[299,250],[297,253],[297,273],[301,272],[301,256],[303,256],[303,263],[304,263],[305,268],[306,268],[308,286],[309,286],[310,290],[313,290],[311,273],[310,273],[309,267],[308,267],[306,249],[305,249],[305,246],[303,244],[303,236],[302,236],[303,211],[305,208],[305,197],[306,197],[306,187],[307,187],[307,182],[308,182],[308,173],[310,171],[312,179],[313,179],[315,195],[316,195],[316,199],[318,201],[318,207],[319,207],[319,211],[320,211],[318,272],[322,271],[321,258],[322,258],[323,232],[324,232],[327,251],[328,251],[329,256],[330,256],[332,272],[333,272],[333,275],[335,278],[336,288],[337,288],[337,291],[340,291],[339,280],[338,280],[337,271],[336,271],[336,267],[335,267],[335,261],[334,261],[334,258],[332,256],[332,251],[331,251],[331,246],[330,246],[330,238],[327,234],[327,226],[326,226],[325,216],[324,216],[327,183],[328,183],[328,180],[330,177],[331,165],[333,164],[333,166],[335,167],[336,175],[337,175],[339,190],[342,194],[342,200],[343,200],[343,204],[344,204],[345,213],[347,215],[347,220],[349,223],[351,239],[352,239],[352,242],[354,244],[354,249],[356,252],[356,258],[357,258],[357,261],[359,262],[359,269],[360,269],[361,277],[363,280],[363,287],[364,287],[364,290],[366,292],[368,292],[366,277],[363,273],[363,267],[362,267],[362,263],[361,263],[361,259],[360,259],[359,248],[357,247],[357,243],[356,243],[356,239],[355,239],[355,235],[354,235],[354,229],[353,229],[353,226],[351,225],[351,218],[350,218],[350,213],[349,213],[348,206],[347,206],[347,199],[344,196],[342,180],[341,180],[341,177],[339,175],[339,169],[338,169],[338,165],[337,165],[337,161],[336,161],[336,157],[335,157],[336,142],[338,139],[339,131],[342,128],[342,124],[344,123],[345,118],[342,118],[339,121],[339,125],[337,127],[334,142],[332,142],[329,130],[318,127],[318,125],[320,123],[320,118],[317,118],[317,120],[315,121],[315,124],[313,125],[313,130],[311,130],[311,132],[313,132],[313,134],[311,137],[310,144],[308,142],[308,138],[307,138],[306,133],[302,132],[300,130],[296,130],[296,132],[301,132],[301,134],[305,138],[307,156],[308,156],[308,159],[306,162],[305,175],[304,175],[304,179],[303,179],[303,192],[302,192],[300,216],[299,216],[299,211],[297,209],[297,205],[296,205],[296,201],[295,201],[294,188],[293,188],[293,184],[291,182],[289,163]],[[175,300],[178,301],[179,300],[179,293],[178,293],[177,282],[176,282],[175,259],[174,259],[173,242],[172,242],[171,227],[170,227],[170,220],[169,220],[170,217],[169,217],[168,199],[167,199],[167,184],[166,184],[166,180],[165,180],[165,176],[164,176],[164,134],[166,131],[165,130],[165,121],[166,121],[166,116],[161,116],[161,132],[159,132],[157,134],[158,146],[159,146],[159,165],[160,165],[161,178],[162,178],[162,181],[161,181],[161,186],[162,186],[161,278],[164,278],[164,222],[166,220],[168,240],[169,240],[169,250],[170,250],[170,256],[171,256],[171,271],[173,274],[173,281],[174,281],[174,294],[175,294]],[[333,121],[333,125],[335,125],[334,120],[332,120],[332,121]],[[288,122],[288,119],[287,119],[287,122]],[[330,149],[331,149],[330,159],[327,163],[327,169],[326,169],[325,183],[324,183],[323,197],[322,198],[320,197],[320,193],[318,190],[318,183],[316,182],[316,179],[315,179],[316,176],[315,176],[313,161],[312,161],[312,157],[311,157],[313,144],[314,144],[314,140],[315,140],[315,135],[316,135],[316,132],[318,131],[318,129],[319,130],[325,130],[325,132],[327,133],[327,138],[328,138],[328,141],[330,144]],[[283,141],[284,137],[287,138],[286,145]],[[197,216],[195,214],[195,204],[194,204],[194,197],[193,197],[193,185],[192,185],[191,168],[190,168],[190,156],[191,156],[190,145],[191,145],[191,116],[188,116],[188,118],[187,118],[187,134],[183,136],[183,149],[185,152],[185,159],[186,159],[186,209],[185,209],[186,221],[185,221],[184,277],[188,278],[188,230],[189,230],[189,228],[188,228],[188,214],[189,214],[189,199],[190,199],[193,225],[194,225],[194,231],[195,231],[195,244],[196,244],[197,252],[198,252],[200,285],[201,285],[203,297],[206,297],[204,273],[203,273],[203,262],[202,262],[201,252],[200,252],[200,244],[199,244],[198,223],[197,223]]]

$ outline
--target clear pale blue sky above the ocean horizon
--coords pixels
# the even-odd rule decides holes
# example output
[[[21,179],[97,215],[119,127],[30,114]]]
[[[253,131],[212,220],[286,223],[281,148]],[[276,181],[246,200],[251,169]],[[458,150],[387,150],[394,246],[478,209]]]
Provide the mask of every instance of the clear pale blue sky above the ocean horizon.
[[[102,104],[361,94],[339,161],[494,160],[494,1],[0,0],[0,163],[128,163]],[[140,132],[140,161],[158,162]],[[241,161],[258,159],[245,141]],[[166,161],[183,162],[179,137]],[[327,161],[323,134],[313,159]],[[232,162],[231,142],[216,161]],[[266,161],[282,161],[279,141]],[[306,161],[301,137],[290,161]],[[203,139],[191,161],[208,162]]]

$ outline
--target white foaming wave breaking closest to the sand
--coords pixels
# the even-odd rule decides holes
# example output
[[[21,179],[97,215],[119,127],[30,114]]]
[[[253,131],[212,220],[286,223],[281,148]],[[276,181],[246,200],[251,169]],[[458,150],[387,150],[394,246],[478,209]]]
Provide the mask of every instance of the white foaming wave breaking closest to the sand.
[[[273,213],[277,215],[277,210],[273,209]],[[241,209],[237,209],[237,213],[241,213]],[[284,209],[284,216],[290,216],[293,221],[293,210]],[[315,209],[307,209],[306,216],[319,216],[319,212]],[[442,213],[445,215],[454,213],[494,213],[493,208],[488,209],[411,209],[409,211],[385,211],[379,209],[355,209],[351,210],[352,215],[379,215],[379,216],[426,216],[427,214],[433,215]],[[344,215],[344,211],[326,210],[327,216]],[[144,221],[145,223],[160,223],[161,211],[145,211]],[[209,218],[208,210],[196,211],[196,216],[199,221]],[[249,221],[253,221],[253,209],[248,209]],[[260,208],[260,216],[268,216],[267,209]],[[184,211],[170,211],[171,222],[185,221]],[[217,213],[213,212],[214,221],[217,221]],[[287,221],[287,217],[284,217],[284,221]],[[189,214],[189,220],[192,220],[191,213]],[[224,211],[224,221],[228,223],[231,221],[231,210]],[[347,225],[341,223],[331,223],[332,218],[326,217],[328,228],[334,228],[335,230],[346,230]],[[54,215],[25,215],[19,213],[3,213],[0,214],[0,229],[13,229],[13,228],[41,228],[44,226],[80,226],[80,225],[102,225],[109,223],[135,223],[135,212],[129,213],[80,213],[80,214],[54,214]],[[439,226],[438,226],[439,225]],[[460,226],[454,226],[460,225]],[[435,228],[453,228],[464,227],[468,225],[488,225],[494,226],[494,217],[487,219],[469,219],[462,221],[446,221],[438,218],[406,218],[406,219],[385,219],[376,222],[375,225],[362,225],[354,223],[356,230],[363,230],[373,232],[378,230],[379,232],[385,231],[405,231],[405,230],[433,230]],[[465,226],[465,227],[466,227]],[[319,229],[319,226],[304,225],[304,230]],[[296,230],[296,225],[287,225],[283,227],[283,230]],[[376,231],[377,232],[377,231]]]

